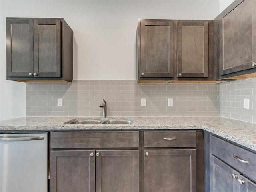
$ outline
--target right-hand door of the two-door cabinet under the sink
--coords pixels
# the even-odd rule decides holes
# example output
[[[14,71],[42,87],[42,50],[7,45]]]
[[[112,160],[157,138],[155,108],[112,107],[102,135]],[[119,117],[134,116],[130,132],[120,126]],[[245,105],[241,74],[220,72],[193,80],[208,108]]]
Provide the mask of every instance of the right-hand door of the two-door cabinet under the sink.
[[[139,192],[139,150],[96,151],[96,192]]]

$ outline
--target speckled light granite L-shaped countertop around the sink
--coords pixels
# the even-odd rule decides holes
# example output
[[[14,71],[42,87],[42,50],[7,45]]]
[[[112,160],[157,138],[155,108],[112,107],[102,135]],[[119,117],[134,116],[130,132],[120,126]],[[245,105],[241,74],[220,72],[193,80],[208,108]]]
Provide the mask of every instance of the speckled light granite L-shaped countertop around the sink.
[[[131,120],[132,124],[64,124],[69,120]],[[256,124],[222,117],[22,117],[0,121],[0,133],[22,130],[203,129],[256,151]]]

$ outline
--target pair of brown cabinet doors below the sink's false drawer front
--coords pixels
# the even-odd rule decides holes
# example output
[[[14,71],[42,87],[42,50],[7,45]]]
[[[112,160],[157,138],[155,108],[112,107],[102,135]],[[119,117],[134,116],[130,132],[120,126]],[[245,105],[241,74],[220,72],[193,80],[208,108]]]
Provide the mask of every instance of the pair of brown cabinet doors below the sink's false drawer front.
[[[64,150],[50,156],[50,192],[139,192],[139,150]]]

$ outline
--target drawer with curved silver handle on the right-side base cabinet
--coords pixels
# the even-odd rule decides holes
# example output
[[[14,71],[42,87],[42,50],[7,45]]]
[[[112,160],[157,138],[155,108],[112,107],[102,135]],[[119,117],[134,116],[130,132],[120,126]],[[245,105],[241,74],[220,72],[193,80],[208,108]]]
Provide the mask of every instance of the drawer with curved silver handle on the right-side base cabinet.
[[[235,146],[215,136],[211,136],[210,153],[236,170],[256,180],[256,154]],[[245,161],[245,162],[242,162]]]

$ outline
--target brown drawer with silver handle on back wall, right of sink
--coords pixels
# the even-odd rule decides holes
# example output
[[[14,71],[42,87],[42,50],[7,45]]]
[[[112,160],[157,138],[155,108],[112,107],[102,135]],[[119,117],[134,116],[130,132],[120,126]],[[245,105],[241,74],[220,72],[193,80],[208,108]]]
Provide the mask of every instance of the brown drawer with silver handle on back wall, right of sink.
[[[144,147],[195,147],[195,131],[145,131]]]

